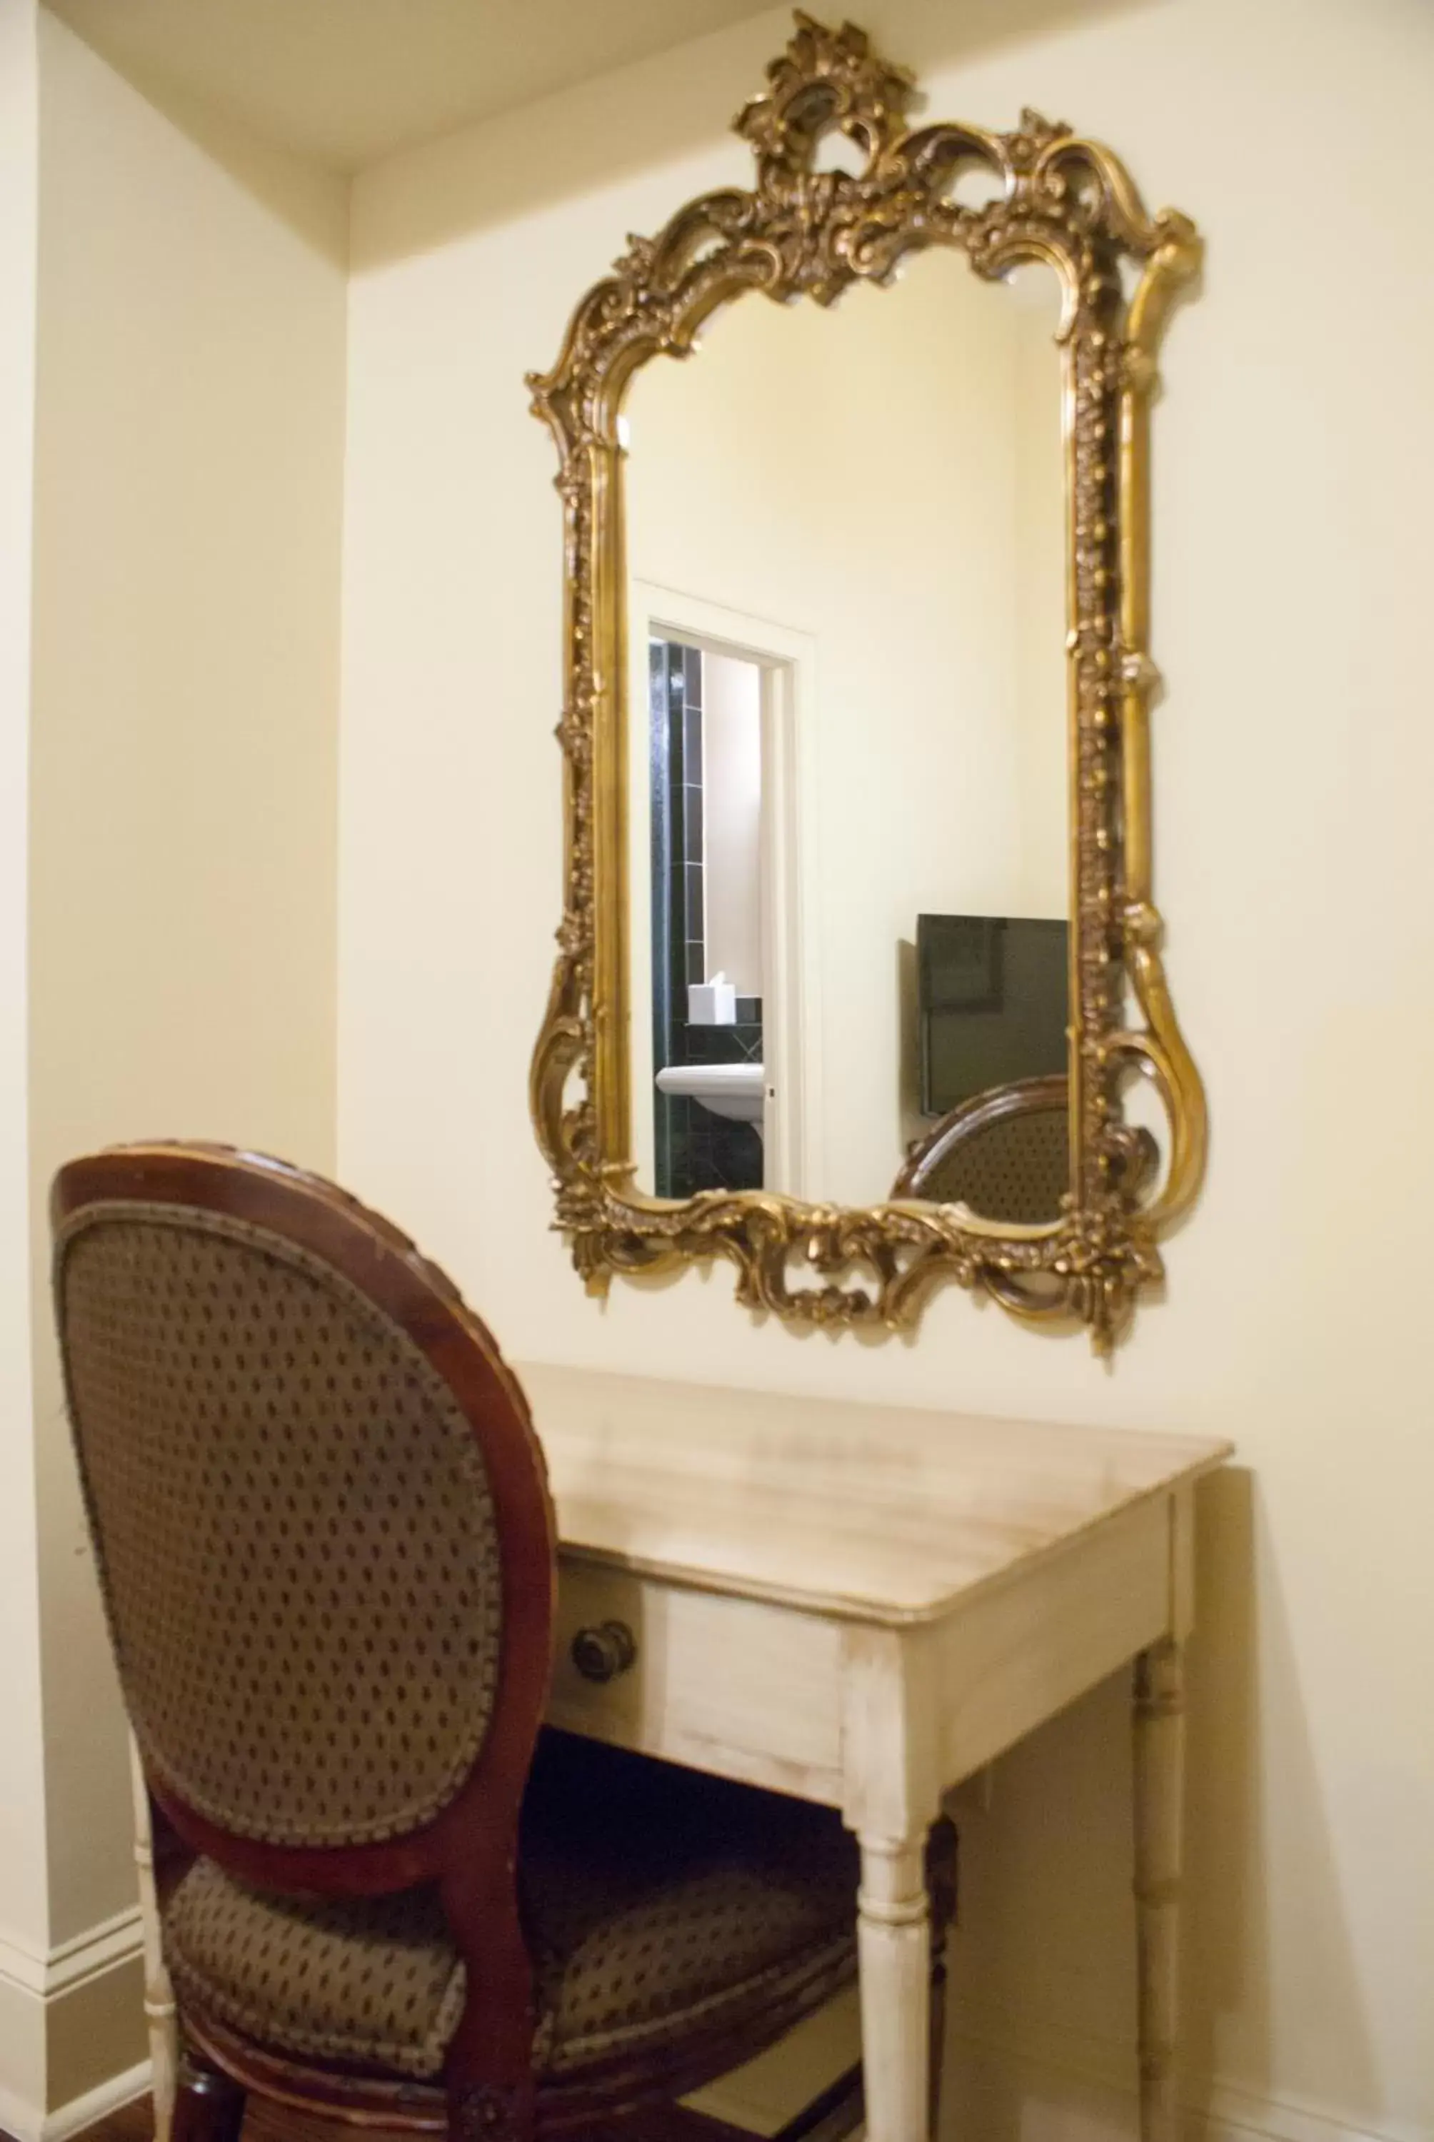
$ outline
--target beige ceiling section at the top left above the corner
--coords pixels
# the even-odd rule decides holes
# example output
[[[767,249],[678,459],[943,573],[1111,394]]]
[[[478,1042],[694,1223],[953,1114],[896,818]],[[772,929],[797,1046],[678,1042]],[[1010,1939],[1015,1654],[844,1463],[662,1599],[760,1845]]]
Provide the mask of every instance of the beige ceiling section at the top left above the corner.
[[[334,171],[564,90],[761,0],[47,0],[156,101]]]

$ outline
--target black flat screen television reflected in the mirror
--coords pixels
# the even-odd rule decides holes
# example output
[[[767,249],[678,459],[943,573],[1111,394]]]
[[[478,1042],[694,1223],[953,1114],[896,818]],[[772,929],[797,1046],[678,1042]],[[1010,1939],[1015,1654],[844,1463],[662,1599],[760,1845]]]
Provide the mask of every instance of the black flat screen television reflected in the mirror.
[[[924,1116],[1065,1071],[1067,934],[1018,915],[917,915]]]

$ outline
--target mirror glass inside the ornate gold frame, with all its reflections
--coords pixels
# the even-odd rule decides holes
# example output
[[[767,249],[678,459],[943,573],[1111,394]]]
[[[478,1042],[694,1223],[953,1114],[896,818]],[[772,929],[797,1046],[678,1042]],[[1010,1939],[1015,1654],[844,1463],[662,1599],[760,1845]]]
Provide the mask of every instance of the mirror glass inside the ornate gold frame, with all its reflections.
[[[1059,283],[744,296],[626,401],[637,1187],[1067,1187]]]

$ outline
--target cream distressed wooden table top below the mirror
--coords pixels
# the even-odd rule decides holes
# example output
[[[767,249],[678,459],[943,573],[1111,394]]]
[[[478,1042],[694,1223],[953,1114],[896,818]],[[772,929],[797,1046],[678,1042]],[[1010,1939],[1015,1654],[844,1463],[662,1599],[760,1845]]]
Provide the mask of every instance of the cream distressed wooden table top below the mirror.
[[[862,1621],[939,1619],[1230,1454],[1203,1435],[514,1373],[564,1557]]]

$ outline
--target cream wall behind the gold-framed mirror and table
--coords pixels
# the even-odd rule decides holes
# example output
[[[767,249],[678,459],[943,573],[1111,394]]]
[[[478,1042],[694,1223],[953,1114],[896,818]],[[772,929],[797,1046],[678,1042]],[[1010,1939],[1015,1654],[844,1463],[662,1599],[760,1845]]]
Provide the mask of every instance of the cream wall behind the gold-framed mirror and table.
[[[757,1326],[725,1272],[602,1309],[549,1232],[525,1071],[559,912],[559,510],[521,375],[626,231],[746,180],[722,124],[776,13],[358,180],[341,1170],[519,1360],[1237,1437],[1203,1529],[1192,2091],[1220,2131],[1325,2133],[1303,2106],[1428,2142],[1434,15],[1151,0],[965,49],[935,0],[864,19],[928,114],[1067,116],[1209,240],[1157,411],[1157,889],[1213,1110],[1166,1298],[1108,1373],[954,1289],[913,1345]],[[1374,1037],[1404,1110],[1359,1110]],[[967,1816],[956,2013],[986,2136],[1119,2131],[1123,1763],[1106,1690]]]

